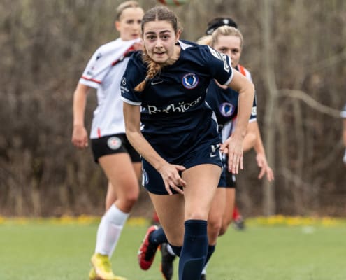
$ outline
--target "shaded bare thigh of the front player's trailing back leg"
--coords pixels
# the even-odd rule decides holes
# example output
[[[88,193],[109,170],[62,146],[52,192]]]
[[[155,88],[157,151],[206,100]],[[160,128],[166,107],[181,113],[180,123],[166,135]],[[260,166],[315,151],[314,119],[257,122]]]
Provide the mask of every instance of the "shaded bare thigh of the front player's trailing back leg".
[[[166,237],[174,246],[182,246],[184,237],[184,197],[149,193]]]

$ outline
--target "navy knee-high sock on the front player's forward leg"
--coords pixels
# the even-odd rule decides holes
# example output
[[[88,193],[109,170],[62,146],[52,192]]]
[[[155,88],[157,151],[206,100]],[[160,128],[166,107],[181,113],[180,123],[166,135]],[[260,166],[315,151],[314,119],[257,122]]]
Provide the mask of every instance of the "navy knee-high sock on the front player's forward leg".
[[[179,280],[200,280],[207,253],[207,221],[185,221],[184,243],[179,260]]]

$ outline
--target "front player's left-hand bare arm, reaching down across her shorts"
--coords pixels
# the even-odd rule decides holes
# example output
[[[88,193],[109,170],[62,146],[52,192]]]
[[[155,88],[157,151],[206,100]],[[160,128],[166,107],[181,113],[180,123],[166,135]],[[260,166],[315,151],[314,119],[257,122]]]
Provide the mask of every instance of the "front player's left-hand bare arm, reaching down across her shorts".
[[[171,188],[178,191],[178,193],[183,193],[178,186],[185,187],[186,183],[182,180],[178,171],[185,170],[185,167],[181,165],[170,165],[164,158],[161,158],[145,137],[143,137],[142,132],[140,132],[140,106],[123,102],[123,110],[125,131],[131,145],[161,174],[169,195],[173,194]]]

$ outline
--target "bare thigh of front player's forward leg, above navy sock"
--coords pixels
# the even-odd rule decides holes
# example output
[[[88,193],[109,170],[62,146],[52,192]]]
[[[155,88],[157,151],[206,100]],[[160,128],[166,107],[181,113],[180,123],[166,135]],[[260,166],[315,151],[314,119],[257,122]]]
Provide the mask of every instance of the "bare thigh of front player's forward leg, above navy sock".
[[[196,165],[182,172],[187,183],[184,188],[185,220],[207,220],[217,190],[221,167],[212,164]]]

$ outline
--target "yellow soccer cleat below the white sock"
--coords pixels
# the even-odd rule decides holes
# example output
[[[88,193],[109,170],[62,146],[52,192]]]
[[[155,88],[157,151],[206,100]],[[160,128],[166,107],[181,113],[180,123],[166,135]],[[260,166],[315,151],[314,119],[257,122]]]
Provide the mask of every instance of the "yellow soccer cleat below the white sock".
[[[126,280],[126,278],[115,276],[108,255],[95,253],[92,256],[92,269],[89,272],[90,280]]]

